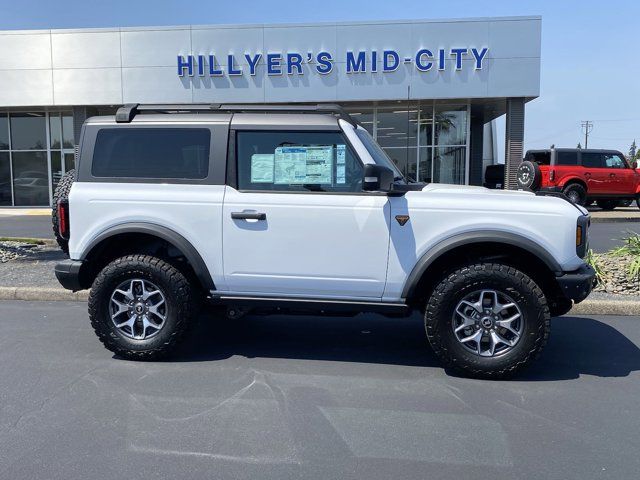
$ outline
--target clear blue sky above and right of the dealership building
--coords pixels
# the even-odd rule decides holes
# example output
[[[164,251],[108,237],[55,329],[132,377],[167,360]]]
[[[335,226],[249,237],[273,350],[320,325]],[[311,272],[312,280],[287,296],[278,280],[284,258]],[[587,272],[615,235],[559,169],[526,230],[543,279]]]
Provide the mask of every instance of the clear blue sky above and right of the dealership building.
[[[590,147],[627,153],[634,138],[640,143],[635,0],[0,0],[0,29],[506,15],[542,15],[541,93],[527,105],[526,148],[575,147],[581,120],[594,122]]]

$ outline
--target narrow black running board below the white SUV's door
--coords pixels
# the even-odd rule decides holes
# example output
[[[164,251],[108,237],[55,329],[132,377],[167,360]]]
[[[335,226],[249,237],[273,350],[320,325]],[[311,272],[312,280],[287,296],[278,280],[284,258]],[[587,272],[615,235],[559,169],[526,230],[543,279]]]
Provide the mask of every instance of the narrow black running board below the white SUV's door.
[[[296,297],[251,297],[225,295],[211,292],[214,303],[244,307],[274,308],[276,310],[301,309],[315,312],[375,312],[382,314],[408,315],[411,311],[406,303],[369,302],[362,300],[330,300],[324,298]]]

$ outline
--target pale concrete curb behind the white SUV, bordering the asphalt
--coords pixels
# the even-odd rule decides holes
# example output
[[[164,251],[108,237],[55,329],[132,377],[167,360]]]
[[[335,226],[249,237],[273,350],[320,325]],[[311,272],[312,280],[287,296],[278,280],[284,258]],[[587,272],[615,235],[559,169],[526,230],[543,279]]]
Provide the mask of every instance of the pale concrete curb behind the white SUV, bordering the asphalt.
[[[0,287],[0,300],[85,302],[88,297],[88,290],[71,292],[62,288]],[[640,297],[616,298],[615,300],[587,299],[574,305],[568,315],[635,315],[640,317]]]

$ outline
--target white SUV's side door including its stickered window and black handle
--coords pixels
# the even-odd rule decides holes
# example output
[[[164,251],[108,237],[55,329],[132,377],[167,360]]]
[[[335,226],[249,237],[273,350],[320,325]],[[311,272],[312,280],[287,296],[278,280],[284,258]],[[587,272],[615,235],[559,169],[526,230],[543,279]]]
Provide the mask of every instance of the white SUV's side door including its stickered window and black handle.
[[[382,297],[385,195],[362,192],[362,164],[341,132],[238,131],[237,184],[223,207],[233,293]]]

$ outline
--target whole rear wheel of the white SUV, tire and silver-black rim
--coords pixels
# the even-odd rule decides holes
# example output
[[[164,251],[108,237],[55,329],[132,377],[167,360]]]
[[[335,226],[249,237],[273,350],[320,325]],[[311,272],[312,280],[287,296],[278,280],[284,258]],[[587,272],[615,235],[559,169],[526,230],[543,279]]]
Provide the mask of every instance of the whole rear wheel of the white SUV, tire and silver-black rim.
[[[196,313],[194,292],[173,265],[128,255],[107,265],[89,295],[91,325],[104,346],[131,360],[171,353]]]

